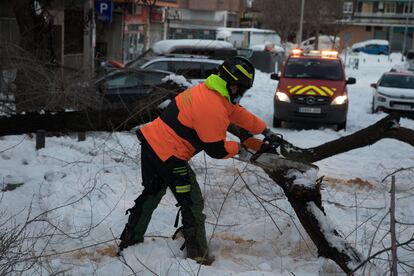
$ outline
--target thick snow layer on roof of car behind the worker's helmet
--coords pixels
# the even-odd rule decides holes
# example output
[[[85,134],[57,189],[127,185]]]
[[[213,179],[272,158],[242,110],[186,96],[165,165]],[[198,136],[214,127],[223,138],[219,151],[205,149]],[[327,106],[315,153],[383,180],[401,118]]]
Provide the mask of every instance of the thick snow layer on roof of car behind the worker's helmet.
[[[209,39],[167,39],[161,40],[152,46],[154,53],[165,55],[176,49],[192,48],[192,49],[231,49],[233,44],[221,40]]]

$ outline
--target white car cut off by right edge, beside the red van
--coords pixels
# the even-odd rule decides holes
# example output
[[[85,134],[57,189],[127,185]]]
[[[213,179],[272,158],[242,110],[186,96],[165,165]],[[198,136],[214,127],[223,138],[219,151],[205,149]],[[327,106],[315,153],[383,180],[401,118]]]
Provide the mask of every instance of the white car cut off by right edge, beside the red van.
[[[409,72],[386,72],[377,83],[372,83],[374,95],[372,113],[397,111],[414,114],[414,74]]]

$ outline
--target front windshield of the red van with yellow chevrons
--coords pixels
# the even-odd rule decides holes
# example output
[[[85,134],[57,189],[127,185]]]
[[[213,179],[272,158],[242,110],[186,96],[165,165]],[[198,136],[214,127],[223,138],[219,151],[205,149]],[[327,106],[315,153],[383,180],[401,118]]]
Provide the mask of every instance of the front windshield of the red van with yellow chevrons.
[[[342,80],[339,60],[290,58],[286,65],[286,78]]]

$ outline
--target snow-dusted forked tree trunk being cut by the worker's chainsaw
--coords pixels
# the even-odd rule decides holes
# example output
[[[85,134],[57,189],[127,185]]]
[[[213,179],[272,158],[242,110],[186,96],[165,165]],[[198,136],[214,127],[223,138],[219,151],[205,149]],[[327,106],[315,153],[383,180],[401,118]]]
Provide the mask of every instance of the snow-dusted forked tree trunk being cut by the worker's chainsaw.
[[[243,136],[243,131],[232,129],[231,132],[236,136]],[[372,145],[384,138],[397,139],[414,146],[414,130],[401,127],[399,116],[392,114],[367,128],[317,147],[303,149],[283,140],[280,149],[287,159],[313,163],[353,149]],[[251,160],[244,161],[251,162]],[[312,179],[312,177],[305,175],[306,172],[292,173],[293,170],[289,167],[270,168],[269,164],[261,164],[260,159],[253,164],[262,167],[268,176],[283,189],[303,228],[318,248],[319,256],[333,260],[345,273],[352,274],[354,268],[364,260],[361,254],[330,226],[322,206],[320,193],[322,179],[316,179],[316,175]],[[301,177],[313,181],[313,185],[304,186],[295,183],[295,180]],[[299,183],[301,182],[299,181]]]

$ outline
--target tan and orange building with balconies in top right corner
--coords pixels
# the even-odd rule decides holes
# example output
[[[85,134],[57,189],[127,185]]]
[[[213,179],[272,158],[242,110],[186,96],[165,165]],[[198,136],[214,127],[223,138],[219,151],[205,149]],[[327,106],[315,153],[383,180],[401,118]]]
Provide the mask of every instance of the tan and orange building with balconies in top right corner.
[[[414,45],[413,0],[354,0],[344,2],[341,48],[368,39],[385,39],[392,51]]]

